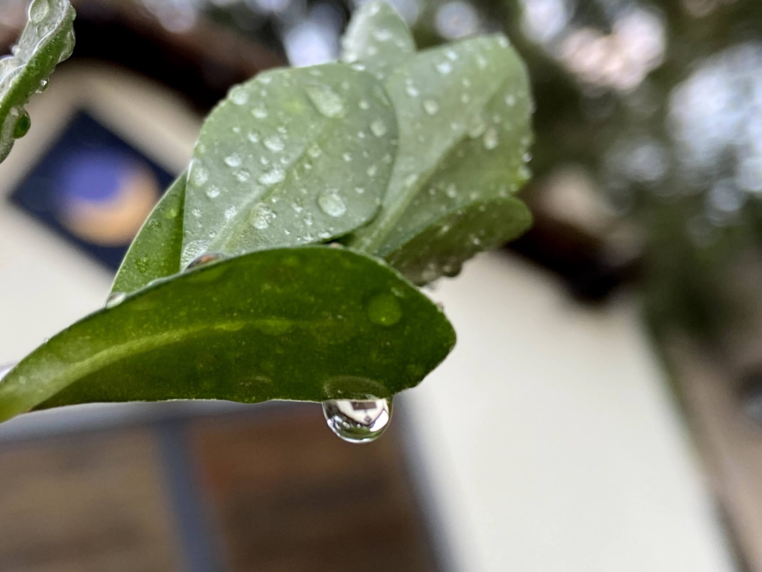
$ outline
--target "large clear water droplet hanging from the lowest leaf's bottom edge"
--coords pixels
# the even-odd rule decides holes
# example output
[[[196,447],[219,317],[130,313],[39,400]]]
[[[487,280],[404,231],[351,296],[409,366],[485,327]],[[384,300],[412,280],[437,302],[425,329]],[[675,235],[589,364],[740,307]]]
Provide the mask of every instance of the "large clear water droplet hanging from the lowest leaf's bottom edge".
[[[387,399],[323,401],[323,415],[331,431],[348,443],[369,443],[378,439],[392,419],[392,402]]]

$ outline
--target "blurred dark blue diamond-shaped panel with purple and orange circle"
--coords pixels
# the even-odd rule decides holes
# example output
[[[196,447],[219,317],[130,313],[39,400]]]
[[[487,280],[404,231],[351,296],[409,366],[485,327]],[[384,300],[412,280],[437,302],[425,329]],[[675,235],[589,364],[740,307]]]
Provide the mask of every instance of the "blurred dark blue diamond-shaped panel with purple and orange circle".
[[[10,200],[116,270],[173,176],[84,112]]]

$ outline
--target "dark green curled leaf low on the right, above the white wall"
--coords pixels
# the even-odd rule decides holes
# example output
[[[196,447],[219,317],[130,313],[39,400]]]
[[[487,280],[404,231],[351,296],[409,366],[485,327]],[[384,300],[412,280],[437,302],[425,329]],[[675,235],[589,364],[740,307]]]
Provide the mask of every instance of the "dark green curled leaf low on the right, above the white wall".
[[[458,275],[464,261],[517,239],[531,224],[529,208],[517,198],[477,200],[411,233],[389,255],[389,264],[411,282],[428,284],[441,275]]]

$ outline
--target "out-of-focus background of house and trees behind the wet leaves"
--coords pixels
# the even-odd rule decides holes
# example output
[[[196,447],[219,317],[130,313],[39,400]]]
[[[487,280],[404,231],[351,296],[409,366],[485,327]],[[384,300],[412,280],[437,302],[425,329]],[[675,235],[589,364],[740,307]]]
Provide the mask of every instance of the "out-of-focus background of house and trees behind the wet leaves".
[[[336,59],[359,2],[72,3],[0,165],[0,362],[101,306],[229,86]],[[312,405],[5,423],[0,572],[762,572],[762,3],[390,3],[533,83],[536,223],[430,292],[456,351],[362,447]]]

